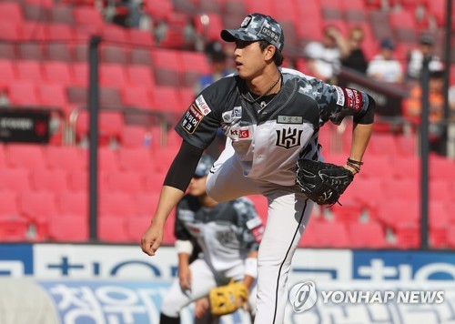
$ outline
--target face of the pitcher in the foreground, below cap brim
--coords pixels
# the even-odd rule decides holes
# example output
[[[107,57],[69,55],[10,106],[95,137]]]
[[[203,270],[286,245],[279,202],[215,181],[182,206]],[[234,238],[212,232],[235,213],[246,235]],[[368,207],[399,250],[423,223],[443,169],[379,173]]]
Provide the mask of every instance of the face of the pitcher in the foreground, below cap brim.
[[[246,80],[260,75],[266,66],[265,55],[258,42],[237,40],[234,56],[238,76]]]

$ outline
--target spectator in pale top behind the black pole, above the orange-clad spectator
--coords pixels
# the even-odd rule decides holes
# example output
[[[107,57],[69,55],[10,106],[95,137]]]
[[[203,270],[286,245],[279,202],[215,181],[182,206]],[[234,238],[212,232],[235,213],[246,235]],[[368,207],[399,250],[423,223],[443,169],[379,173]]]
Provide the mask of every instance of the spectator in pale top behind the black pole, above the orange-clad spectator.
[[[422,34],[419,39],[419,47],[410,51],[408,56],[407,75],[410,80],[418,80],[422,68],[423,57],[431,56],[430,69],[436,70],[440,66],[440,58],[434,53],[434,38],[430,34]]]

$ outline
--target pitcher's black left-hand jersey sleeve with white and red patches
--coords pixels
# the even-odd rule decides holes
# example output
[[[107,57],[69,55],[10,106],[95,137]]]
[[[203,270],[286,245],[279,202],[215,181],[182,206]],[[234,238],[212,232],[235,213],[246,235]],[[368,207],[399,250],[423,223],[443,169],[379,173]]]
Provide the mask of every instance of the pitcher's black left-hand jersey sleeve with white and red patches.
[[[177,134],[195,147],[207,148],[217,135],[219,88],[213,84],[202,90],[175,127]]]

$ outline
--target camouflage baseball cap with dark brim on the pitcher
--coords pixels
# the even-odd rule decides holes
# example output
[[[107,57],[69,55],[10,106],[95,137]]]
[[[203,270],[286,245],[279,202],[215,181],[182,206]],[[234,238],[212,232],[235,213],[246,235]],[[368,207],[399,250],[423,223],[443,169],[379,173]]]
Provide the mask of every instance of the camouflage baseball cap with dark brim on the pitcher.
[[[238,29],[223,29],[221,38],[227,42],[236,39],[244,41],[258,41],[264,39],[278,50],[284,47],[284,33],[278,22],[269,15],[249,14]]]

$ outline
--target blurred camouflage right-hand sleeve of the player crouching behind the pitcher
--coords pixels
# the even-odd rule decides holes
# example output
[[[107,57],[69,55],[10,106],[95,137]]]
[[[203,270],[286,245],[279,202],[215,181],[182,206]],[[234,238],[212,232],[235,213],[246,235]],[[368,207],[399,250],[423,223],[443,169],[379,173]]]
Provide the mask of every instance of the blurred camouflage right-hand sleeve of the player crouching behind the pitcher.
[[[242,228],[240,235],[243,248],[247,248],[248,251],[258,250],[264,234],[264,225],[254,204],[248,198],[241,197],[236,199],[234,208],[238,213],[238,228]]]

